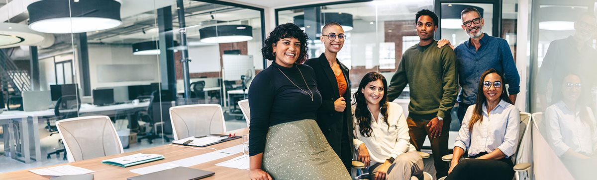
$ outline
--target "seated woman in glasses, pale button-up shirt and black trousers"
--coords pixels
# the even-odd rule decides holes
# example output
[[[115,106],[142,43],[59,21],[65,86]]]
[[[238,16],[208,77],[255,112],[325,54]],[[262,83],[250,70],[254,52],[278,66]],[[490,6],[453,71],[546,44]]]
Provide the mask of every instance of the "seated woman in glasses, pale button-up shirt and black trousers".
[[[510,157],[518,144],[520,111],[508,98],[502,77],[495,69],[481,75],[477,102],[467,108],[454,143],[447,180],[513,178]],[[468,159],[460,161],[465,150]]]

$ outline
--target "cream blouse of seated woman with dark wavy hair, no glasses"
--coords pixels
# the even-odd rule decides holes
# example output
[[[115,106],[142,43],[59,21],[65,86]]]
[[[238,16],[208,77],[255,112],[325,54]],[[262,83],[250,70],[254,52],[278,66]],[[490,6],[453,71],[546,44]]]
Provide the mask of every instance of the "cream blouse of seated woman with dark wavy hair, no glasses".
[[[354,113],[356,104],[352,105],[352,111]],[[373,114],[371,114],[373,119]],[[369,157],[371,159],[371,165],[375,163],[386,162],[390,157],[396,158],[400,154],[407,153],[408,151],[416,151],[414,145],[410,144],[410,135],[408,135],[407,119],[404,117],[404,110],[396,103],[388,103],[387,105],[387,123],[383,120],[383,114],[377,115],[377,121],[371,122],[371,136],[364,137],[359,131],[359,124],[356,121],[356,117],[352,116],[353,125],[355,127],[355,149],[358,150],[359,146],[365,143],[367,150],[369,151]]]

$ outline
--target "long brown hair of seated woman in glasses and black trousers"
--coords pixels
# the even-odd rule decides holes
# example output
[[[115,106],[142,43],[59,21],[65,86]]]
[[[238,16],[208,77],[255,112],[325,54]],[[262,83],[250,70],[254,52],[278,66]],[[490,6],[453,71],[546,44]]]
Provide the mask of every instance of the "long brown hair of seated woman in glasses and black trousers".
[[[473,126],[475,123],[481,123],[483,121],[483,104],[487,101],[485,94],[483,93],[483,82],[485,81],[485,77],[491,73],[496,73],[500,76],[501,79],[501,95],[500,99],[506,101],[507,103],[512,103],[510,97],[508,97],[508,91],[506,91],[506,79],[504,79],[504,75],[501,72],[498,72],[496,69],[488,69],[479,78],[479,89],[477,89],[477,103],[475,103],[475,109],[473,110],[473,116],[470,117],[469,122],[469,131],[473,131]]]

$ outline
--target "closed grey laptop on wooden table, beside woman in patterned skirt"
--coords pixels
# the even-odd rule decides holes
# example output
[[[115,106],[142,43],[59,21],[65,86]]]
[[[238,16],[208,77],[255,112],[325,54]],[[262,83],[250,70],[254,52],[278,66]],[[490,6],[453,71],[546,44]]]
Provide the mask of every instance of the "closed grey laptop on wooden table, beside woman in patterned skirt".
[[[172,169],[160,170],[145,175],[133,176],[127,180],[153,180],[153,179],[168,179],[168,180],[194,180],[203,179],[208,176],[215,175],[215,172],[192,169],[189,167],[174,167]]]

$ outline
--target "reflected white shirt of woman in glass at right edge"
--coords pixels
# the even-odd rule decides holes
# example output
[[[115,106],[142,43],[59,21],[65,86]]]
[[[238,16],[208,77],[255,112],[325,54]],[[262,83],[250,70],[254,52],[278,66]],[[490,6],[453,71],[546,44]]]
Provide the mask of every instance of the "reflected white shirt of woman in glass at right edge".
[[[595,127],[595,116],[589,107],[588,118]],[[562,156],[568,149],[577,153],[593,155],[597,151],[597,133],[591,133],[591,127],[581,119],[580,110],[572,111],[563,102],[553,104],[546,108],[547,141],[552,145],[553,151]]]

